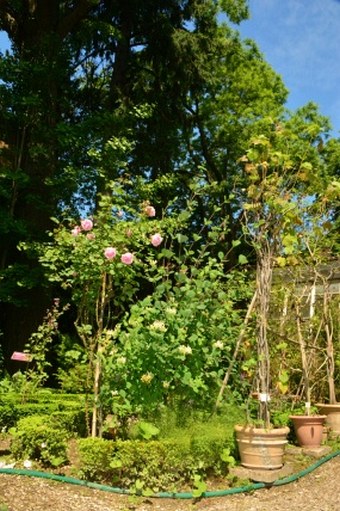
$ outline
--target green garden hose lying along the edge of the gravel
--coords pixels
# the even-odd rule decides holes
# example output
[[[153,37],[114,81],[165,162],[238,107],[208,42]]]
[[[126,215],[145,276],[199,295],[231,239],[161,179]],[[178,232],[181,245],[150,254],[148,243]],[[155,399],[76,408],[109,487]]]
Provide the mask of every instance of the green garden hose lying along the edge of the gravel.
[[[313,472],[316,468],[320,467],[323,463],[326,461],[331,460],[332,458],[335,458],[335,456],[340,455],[340,450],[332,452],[331,454],[328,454],[327,456],[319,459],[317,462],[310,465],[308,468],[305,468],[304,470],[301,470],[300,472],[297,472],[296,474],[292,474],[291,476],[284,477],[282,479],[277,479],[276,481],[272,483],[254,483],[254,484],[248,484],[246,486],[240,486],[238,488],[229,488],[227,490],[216,490],[216,491],[206,491],[202,493],[201,497],[224,497],[226,495],[235,495],[237,493],[246,493],[249,491],[259,490],[261,488],[268,488],[270,486],[282,486],[284,484],[292,483],[296,481],[297,479],[300,479],[300,477],[303,477],[310,472]],[[115,488],[112,486],[102,485],[98,483],[91,483],[89,481],[82,481],[81,479],[75,479],[73,477],[67,477],[67,476],[60,476],[57,474],[51,474],[49,472],[38,472],[36,470],[24,470],[24,469],[16,469],[16,468],[0,468],[0,474],[11,474],[11,475],[18,475],[18,476],[29,476],[29,477],[40,477],[42,479],[51,479],[53,481],[60,481],[63,483],[68,484],[75,484],[78,486],[85,486],[87,488],[93,488],[95,490],[102,490],[106,492],[111,493],[119,493],[119,494],[130,494],[129,490],[123,489],[123,488]],[[159,492],[154,493],[150,497],[154,498],[168,498],[168,499],[194,499],[194,495],[190,492]]]

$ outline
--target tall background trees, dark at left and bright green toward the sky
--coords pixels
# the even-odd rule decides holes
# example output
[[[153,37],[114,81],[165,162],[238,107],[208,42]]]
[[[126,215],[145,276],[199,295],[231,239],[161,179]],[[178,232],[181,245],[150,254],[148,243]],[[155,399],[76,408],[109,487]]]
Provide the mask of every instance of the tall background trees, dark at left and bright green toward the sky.
[[[328,120],[313,104],[286,111],[281,77],[232,28],[247,16],[246,0],[0,1],[11,41],[0,56],[7,355],[37,327],[52,293],[19,243],[46,240],[52,218],[95,214],[111,181],[160,216],[195,193],[187,235],[207,238],[223,222],[213,250],[224,247],[229,267],[244,251],[235,243],[249,184],[241,158],[254,137],[287,126],[296,158],[308,154],[336,182],[340,146],[328,140]],[[336,206],[330,214],[337,221]]]

